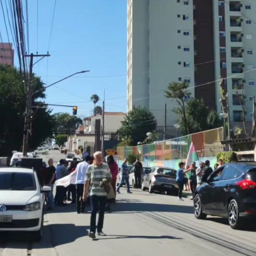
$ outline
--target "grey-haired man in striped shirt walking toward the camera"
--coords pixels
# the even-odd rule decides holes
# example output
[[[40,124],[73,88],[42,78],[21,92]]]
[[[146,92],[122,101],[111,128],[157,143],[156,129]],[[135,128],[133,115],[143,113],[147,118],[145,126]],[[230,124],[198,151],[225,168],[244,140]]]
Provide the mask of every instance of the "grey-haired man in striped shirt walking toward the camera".
[[[107,193],[104,188],[105,182],[111,182],[111,173],[107,164],[103,163],[103,156],[100,151],[93,154],[94,163],[91,164],[86,173],[86,182],[83,191],[83,201],[86,202],[88,198],[89,181],[91,180],[91,223],[89,237],[95,238],[95,231],[97,228],[98,236],[105,236],[102,231],[104,222],[104,212],[106,208]],[[96,226],[96,214],[99,211],[99,219]]]

